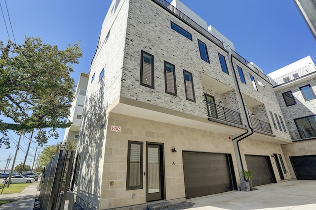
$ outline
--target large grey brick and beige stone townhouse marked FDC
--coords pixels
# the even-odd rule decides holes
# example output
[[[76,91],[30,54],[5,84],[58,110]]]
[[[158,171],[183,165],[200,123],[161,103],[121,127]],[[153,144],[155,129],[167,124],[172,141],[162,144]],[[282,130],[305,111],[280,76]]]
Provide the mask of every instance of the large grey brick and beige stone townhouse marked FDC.
[[[91,62],[79,133],[84,209],[290,180],[291,138],[273,85],[178,0],[113,0]]]

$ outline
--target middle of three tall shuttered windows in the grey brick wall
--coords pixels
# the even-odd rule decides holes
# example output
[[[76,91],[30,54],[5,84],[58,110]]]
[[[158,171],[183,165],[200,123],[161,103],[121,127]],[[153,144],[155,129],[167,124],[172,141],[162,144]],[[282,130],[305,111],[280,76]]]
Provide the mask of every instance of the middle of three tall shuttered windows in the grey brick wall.
[[[174,70],[174,65],[164,61],[164,83],[166,93],[171,95],[177,95],[176,86],[176,72]]]

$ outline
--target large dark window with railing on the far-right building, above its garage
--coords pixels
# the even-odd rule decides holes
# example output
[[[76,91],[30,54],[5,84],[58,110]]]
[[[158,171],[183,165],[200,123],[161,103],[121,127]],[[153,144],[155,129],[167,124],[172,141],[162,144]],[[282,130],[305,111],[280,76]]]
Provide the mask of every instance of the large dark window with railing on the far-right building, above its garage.
[[[302,139],[316,137],[316,115],[294,119]]]

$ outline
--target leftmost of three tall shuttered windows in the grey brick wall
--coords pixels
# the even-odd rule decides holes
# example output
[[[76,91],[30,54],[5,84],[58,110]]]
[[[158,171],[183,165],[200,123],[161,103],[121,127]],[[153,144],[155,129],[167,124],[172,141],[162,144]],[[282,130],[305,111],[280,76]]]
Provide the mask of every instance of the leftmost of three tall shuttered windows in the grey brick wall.
[[[141,51],[140,85],[154,89],[154,56]]]

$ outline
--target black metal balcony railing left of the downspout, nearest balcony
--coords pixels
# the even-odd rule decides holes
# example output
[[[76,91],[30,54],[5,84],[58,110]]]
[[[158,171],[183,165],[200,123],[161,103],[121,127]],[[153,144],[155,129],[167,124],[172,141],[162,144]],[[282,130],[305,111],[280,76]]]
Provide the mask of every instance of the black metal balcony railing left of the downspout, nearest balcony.
[[[209,118],[216,118],[242,125],[240,113],[210,102],[206,103],[206,107]]]

